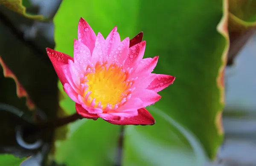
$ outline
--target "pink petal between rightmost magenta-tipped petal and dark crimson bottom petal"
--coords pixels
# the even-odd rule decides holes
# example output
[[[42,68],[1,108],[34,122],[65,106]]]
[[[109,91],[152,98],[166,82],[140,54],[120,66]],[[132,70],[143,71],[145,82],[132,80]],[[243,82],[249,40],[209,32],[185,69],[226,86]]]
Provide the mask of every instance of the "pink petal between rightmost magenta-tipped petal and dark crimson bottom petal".
[[[133,94],[133,97],[140,98],[143,101],[143,107],[147,107],[155,102],[159,101],[161,96],[153,90],[140,90]]]

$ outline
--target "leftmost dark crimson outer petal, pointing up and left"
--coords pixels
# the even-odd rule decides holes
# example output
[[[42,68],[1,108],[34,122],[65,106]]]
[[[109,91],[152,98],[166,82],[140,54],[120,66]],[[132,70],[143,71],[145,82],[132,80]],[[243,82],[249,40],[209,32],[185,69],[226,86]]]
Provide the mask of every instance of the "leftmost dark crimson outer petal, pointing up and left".
[[[65,78],[65,75],[63,73],[63,69],[61,66],[68,64],[68,59],[73,60],[73,58],[65,53],[52,50],[51,48],[46,48],[46,51],[58,75],[58,78],[61,81],[61,84],[64,85],[65,83],[67,83],[67,79]]]

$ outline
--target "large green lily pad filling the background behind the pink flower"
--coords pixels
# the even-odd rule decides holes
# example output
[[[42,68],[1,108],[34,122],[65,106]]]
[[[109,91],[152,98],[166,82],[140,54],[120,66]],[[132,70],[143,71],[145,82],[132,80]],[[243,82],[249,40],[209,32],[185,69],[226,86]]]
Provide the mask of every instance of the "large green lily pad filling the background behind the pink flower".
[[[227,8],[224,10],[224,7],[227,7],[227,1],[222,0],[160,0],[157,3],[154,0],[62,2],[54,19],[56,50],[73,55],[73,39],[77,38],[79,18],[83,17],[96,33],[100,31],[105,37],[115,25],[122,39],[127,36],[134,37],[143,31],[144,39],[147,41],[145,57],[160,55],[154,72],[176,76],[175,84],[160,92],[162,99],[154,107],[148,107],[157,120],[156,124],[149,127],[126,128],[125,165],[154,166],[161,164],[160,162],[168,165],[172,162],[172,155],[180,157],[176,160],[177,164],[192,163],[183,162],[186,158],[183,154],[190,156],[191,160],[187,161],[195,161],[198,155],[193,153],[202,152],[202,149],[195,150],[195,147],[200,149],[200,144],[210,158],[215,157],[223,136],[220,123],[224,107],[221,79],[224,76],[228,48],[225,31]],[[65,100],[61,101],[64,110],[72,109],[74,103],[67,96]],[[172,122],[168,119],[172,119]],[[105,153],[102,151],[108,152],[109,147],[97,146],[96,149],[94,144],[106,139],[112,144],[112,141],[116,140],[118,130],[112,125],[107,131],[107,123],[89,121],[92,124],[87,126],[86,122],[84,130],[79,129],[76,132],[76,138],[67,140],[72,142],[72,145],[78,140],[78,147],[72,152],[66,152],[61,150],[62,145],[59,146],[56,153],[59,161],[69,163],[69,166],[76,162],[79,166],[91,163],[93,159],[104,160],[105,156],[102,154]],[[95,130],[98,133],[96,132],[97,135],[90,146],[80,148],[81,141],[91,141],[92,135],[86,136],[88,130]],[[111,138],[108,132],[115,134]],[[190,134],[186,134],[187,132]],[[76,153],[84,155],[73,156],[75,150]],[[98,151],[100,155],[87,157],[86,154],[90,154],[90,151],[93,151],[93,154],[94,151]],[[164,158],[157,155],[165,152],[169,155]],[[67,153],[72,157],[65,158]],[[78,160],[83,163],[78,163]],[[98,162],[95,161],[95,164]]]

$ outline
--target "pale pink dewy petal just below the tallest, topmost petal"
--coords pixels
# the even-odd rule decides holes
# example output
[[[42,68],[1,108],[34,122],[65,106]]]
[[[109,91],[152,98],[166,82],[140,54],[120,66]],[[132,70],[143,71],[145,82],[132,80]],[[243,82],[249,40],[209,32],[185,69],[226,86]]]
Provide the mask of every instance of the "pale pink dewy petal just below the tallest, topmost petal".
[[[86,69],[90,64],[91,53],[89,48],[78,40],[74,40],[74,62],[79,64],[81,68]]]

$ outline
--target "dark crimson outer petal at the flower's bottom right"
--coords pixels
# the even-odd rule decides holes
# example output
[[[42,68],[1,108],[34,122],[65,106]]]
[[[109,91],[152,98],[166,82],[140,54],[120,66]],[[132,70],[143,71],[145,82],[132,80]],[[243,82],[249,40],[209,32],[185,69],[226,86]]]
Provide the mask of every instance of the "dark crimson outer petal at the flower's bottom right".
[[[138,110],[138,115],[130,118],[123,118],[122,120],[105,120],[111,124],[118,125],[152,125],[155,124],[155,120],[152,115],[145,108]]]

